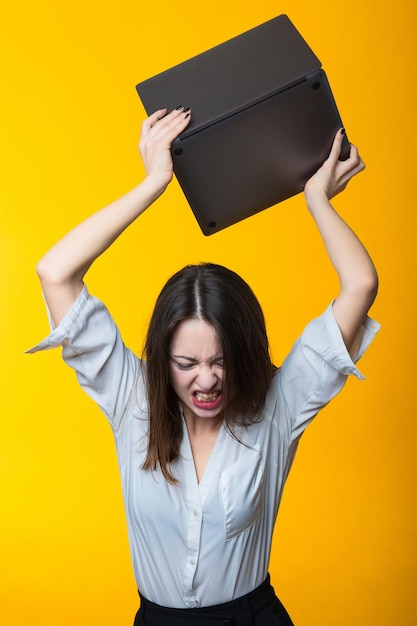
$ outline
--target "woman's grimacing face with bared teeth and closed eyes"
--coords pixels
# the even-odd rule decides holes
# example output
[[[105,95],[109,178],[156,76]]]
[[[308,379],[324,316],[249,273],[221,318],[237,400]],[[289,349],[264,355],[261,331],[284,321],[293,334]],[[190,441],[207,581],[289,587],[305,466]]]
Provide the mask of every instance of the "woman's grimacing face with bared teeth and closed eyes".
[[[223,408],[223,355],[211,324],[193,318],[178,326],[170,345],[169,371],[185,417],[219,416]]]

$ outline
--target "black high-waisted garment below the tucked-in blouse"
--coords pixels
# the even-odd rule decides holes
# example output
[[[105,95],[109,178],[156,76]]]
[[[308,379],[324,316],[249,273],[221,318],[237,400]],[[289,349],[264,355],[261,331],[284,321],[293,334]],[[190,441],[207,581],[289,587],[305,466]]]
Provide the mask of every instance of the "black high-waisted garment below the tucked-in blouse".
[[[159,606],[141,594],[134,626],[294,626],[290,616],[266,580],[246,596],[201,609]]]

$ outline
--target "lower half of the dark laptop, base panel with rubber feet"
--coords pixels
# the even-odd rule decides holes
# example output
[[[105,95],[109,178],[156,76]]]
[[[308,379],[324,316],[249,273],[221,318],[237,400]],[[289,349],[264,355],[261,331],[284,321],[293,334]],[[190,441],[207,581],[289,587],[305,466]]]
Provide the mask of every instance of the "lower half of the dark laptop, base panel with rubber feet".
[[[205,235],[303,190],[342,125],[323,70],[174,142],[174,171]],[[345,139],[342,158],[347,158]]]

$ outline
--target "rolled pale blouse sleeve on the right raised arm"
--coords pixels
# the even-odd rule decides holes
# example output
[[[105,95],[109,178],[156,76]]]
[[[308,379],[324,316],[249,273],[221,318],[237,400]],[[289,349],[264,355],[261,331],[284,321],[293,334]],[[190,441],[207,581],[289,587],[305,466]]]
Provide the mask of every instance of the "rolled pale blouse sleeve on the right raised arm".
[[[353,358],[346,349],[332,304],[310,322],[279,369],[276,384],[285,405],[289,437],[297,439],[313,417],[343,388],[349,375],[365,377],[356,367],[379,324],[367,317]]]

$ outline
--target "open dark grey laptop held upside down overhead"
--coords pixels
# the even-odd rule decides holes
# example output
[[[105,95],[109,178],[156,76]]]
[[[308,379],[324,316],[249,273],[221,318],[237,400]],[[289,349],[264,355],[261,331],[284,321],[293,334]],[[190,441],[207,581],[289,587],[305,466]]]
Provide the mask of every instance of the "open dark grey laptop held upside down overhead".
[[[300,193],[343,125],[319,59],[286,15],[136,89],[148,115],[191,107],[171,150],[204,235]],[[348,154],[345,136],[341,158]]]

